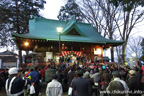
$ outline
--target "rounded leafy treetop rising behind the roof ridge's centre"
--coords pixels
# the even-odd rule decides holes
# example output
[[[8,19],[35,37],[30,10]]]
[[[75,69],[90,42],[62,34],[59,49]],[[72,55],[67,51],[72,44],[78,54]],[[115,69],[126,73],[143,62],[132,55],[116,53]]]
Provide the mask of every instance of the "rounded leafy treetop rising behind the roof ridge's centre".
[[[57,18],[67,21],[72,16],[77,22],[83,22],[84,16],[75,0],[68,0],[65,6],[61,7]]]

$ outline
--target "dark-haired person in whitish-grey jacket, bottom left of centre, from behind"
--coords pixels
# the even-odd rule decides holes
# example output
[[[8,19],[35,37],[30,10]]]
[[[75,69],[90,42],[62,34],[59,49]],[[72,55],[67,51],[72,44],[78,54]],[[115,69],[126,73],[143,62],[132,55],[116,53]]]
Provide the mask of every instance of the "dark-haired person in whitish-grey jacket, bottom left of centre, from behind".
[[[57,81],[57,75],[52,76],[52,81],[47,84],[46,96],[62,96],[62,84]]]

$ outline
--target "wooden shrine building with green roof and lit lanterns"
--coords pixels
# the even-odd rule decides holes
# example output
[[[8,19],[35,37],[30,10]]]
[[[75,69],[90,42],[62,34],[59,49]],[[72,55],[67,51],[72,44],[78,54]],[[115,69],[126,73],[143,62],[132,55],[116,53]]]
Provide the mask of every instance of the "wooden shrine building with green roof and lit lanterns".
[[[62,28],[58,33],[58,28]],[[59,59],[71,53],[77,56],[87,56],[94,61],[98,56],[103,61],[103,50],[119,46],[124,41],[116,41],[101,36],[92,24],[78,23],[71,18],[69,21],[51,20],[34,17],[29,20],[29,33],[12,34],[19,49],[20,62],[21,51],[35,51],[39,63],[47,59]]]

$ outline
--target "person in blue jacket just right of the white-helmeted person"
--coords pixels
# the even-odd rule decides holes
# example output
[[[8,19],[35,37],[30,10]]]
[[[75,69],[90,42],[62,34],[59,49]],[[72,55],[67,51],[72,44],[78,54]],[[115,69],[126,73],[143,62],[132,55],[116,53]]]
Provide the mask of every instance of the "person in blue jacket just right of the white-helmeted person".
[[[39,96],[39,83],[41,75],[39,73],[38,67],[35,67],[35,70],[31,72],[30,76],[31,76],[31,82],[35,88],[35,94],[32,94],[31,96]]]

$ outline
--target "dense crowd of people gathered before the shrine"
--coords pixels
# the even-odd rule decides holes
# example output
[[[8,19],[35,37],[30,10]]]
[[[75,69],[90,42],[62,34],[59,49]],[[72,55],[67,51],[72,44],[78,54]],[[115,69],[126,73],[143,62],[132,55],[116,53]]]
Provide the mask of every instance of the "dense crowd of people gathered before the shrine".
[[[45,70],[50,69],[55,69],[56,72],[51,75],[51,80],[46,81]],[[31,86],[35,89],[31,96],[39,96],[40,83],[47,84],[46,96],[62,96],[63,92],[68,91],[71,96],[99,96],[100,94],[104,96],[125,96],[127,94],[141,96],[144,90],[144,72],[138,66],[132,69],[117,64],[98,63],[56,66],[54,62],[48,66],[35,67],[31,70],[23,68],[20,72],[16,69],[14,72],[11,69],[1,70],[0,87],[5,87],[7,94],[12,94],[10,96],[27,96],[30,94],[27,93],[29,92],[27,89]]]

